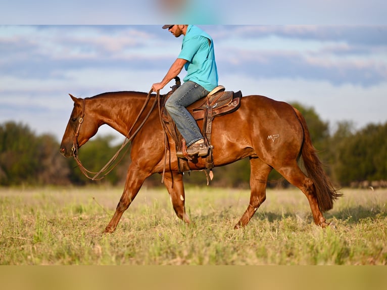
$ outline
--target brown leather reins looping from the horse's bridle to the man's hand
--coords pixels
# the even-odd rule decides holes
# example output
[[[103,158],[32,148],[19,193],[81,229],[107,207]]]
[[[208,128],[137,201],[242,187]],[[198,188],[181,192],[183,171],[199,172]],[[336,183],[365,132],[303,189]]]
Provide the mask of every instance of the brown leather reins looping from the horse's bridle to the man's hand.
[[[128,147],[125,151],[125,153],[121,156],[120,160],[113,165],[114,161],[117,159],[117,157],[119,156],[119,154],[121,153],[121,151],[125,148],[125,146],[134,138],[134,136],[138,133],[138,131],[142,128],[142,126],[145,124],[145,122],[148,120],[149,116],[151,115],[153,109],[155,108],[156,106],[156,103],[158,102],[158,100],[160,99],[160,91],[157,91],[157,96],[155,98],[155,101],[152,105],[152,108],[149,110],[147,116],[144,118],[144,120],[141,122],[141,124],[138,126],[138,128],[133,132],[133,134],[129,137],[130,135],[130,132],[131,130],[133,129],[134,125],[137,123],[138,119],[140,118],[141,114],[144,112],[145,108],[147,107],[148,103],[149,103],[149,100],[151,99],[151,93],[152,93],[152,89],[149,91],[148,95],[147,95],[147,99],[146,101],[144,102],[144,105],[142,106],[140,112],[138,113],[137,115],[137,118],[136,120],[133,122],[133,125],[132,127],[129,129],[128,133],[126,134],[125,136],[125,140],[124,142],[122,143],[122,146],[121,148],[117,151],[117,153],[108,161],[108,163],[99,171],[99,172],[92,172],[92,171],[89,171],[87,170],[83,164],[81,163],[81,161],[79,160],[78,158],[78,136],[79,136],[79,130],[80,130],[80,127],[83,123],[83,118],[84,118],[84,115],[85,115],[85,99],[83,99],[83,106],[82,106],[82,115],[81,117],[79,118],[78,120],[78,127],[77,127],[77,130],[75,132],[75,135],[74,135],[74,140],[73,140],[73,146],[71,147],[71,151],[73,152],[73,156],[74,156],[74,159],[75,161],[77,162],[78,164],[78,167],[79,169],[81,170],[81,172],[83,173],[84,176],[86,176],[88,179],[91,179],[91,180],[101,180],[103,179],[106,175],[108,175],[117,165],[118,163],[120,163],[120,161],[123,159],[123,157],[125,156],[125,154],[128,152],[129,148]],[[111,167],[111,168],[110,168]],[[106,173],[105,173],[106,172]],[[101,174],[105,173],[104,175],[100,176]],[[89,174],[94,174],[94,176],[89,176]],[[100,177],[99,177],[100,176]]]

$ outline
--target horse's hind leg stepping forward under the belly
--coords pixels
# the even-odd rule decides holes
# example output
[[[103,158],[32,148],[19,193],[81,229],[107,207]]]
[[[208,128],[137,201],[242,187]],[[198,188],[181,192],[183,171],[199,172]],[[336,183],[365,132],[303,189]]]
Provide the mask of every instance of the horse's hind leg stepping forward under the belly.
[[[247,225],[259,206],[266,200],[267,178],[272,167],[262,162],[259,158],[251,158],[250,167],[250,202],[235,228]]]

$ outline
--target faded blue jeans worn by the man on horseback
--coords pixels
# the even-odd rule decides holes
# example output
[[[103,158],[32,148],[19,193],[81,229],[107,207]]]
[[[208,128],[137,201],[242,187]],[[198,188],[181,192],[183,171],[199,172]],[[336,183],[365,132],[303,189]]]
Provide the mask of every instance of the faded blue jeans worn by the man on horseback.
[[[201,85],[193,81],[187,81],[176,89],[165,103],[165,109],[167,109],[177,129],[185,139],[187,147],[202,139],[203,135],[195,119],[185,107],[202,99],[208,93],[209,91]]]

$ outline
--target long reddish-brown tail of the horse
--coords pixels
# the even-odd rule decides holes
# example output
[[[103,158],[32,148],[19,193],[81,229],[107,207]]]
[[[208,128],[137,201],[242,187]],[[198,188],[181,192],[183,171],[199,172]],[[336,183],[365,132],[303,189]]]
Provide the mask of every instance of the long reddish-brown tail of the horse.
[[[318,207],[321,212],[325,212],[332,209],[333,200],[340,198],[343,194],[334,188],[329,176],[324,171],[323,165],[317,156],[317,150],[313,147],[304,116],[296,108],[294,110],[304,129],[304,143],[301,152],[304,167],[316,189]]]

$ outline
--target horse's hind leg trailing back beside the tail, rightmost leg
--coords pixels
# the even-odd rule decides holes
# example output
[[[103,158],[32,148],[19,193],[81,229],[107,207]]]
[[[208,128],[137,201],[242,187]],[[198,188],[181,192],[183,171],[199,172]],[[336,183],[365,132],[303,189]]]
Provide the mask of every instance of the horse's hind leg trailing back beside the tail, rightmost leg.
[[[275,168],[287,181],[297,186],[309,201],[310,208],[312,210],[313,220],[315,224],[325,227],[328,224],[324,216],[322,215],[316,198],[316,188],[312,180],[307,177],[300,169],[297,161],[294,161],[291,165],[282,166],[281,168]]]

